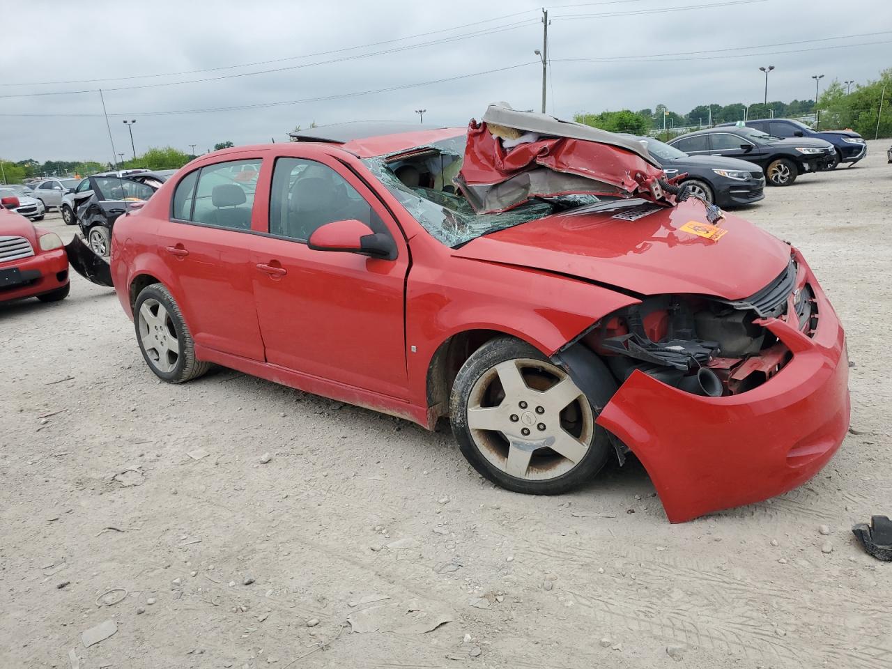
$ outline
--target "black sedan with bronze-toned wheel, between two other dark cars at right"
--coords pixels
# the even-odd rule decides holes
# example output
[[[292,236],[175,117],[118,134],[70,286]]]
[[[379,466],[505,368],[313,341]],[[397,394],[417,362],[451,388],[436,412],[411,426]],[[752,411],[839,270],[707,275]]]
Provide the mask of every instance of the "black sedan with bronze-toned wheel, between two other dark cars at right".
[[[706,128],[675,137],[669,144],[689,155],[755,162],[771,186],[789,186],[803,172],[830,169],[836,159],[836,149],[822,139],[779,139],[745,126]]]

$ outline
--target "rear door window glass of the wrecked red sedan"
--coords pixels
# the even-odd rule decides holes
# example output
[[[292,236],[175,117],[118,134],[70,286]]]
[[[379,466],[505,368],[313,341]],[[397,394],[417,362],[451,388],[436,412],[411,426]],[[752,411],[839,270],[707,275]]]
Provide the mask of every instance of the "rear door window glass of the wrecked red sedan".
[[[219,162],[202,168],[195,188],[191,220],[209,226],[251,229],[259,175],[260,158]]]

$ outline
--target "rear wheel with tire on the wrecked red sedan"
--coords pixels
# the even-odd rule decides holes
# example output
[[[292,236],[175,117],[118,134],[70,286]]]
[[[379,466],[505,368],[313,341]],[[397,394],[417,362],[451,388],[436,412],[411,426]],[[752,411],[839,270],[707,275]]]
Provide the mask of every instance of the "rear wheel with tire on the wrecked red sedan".
[[[136,342],[145,364],[162,381],[182,384],[211,368],[195,359],[195,343],[177,301],[161,284],[147,285],[133,308]]]

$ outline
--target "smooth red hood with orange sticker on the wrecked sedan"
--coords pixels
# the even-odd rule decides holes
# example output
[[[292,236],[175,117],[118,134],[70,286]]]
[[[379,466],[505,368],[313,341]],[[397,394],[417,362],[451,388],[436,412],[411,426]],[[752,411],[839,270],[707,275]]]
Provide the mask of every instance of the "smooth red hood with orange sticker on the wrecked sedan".
[[[544,269],[641,294],[701,293],[739,300],[768,285],[789,263],[787,244],[736,216],[717,238],[682,229],[706,224],[702,202],[658,208],[637,220],[628,208],[557,214],[476,238],[461,258]],[[708,225],[708,224],[706,224]],[[708,229],[696,228],[702,234]],[[719,236],[720,235],[720,236]]]

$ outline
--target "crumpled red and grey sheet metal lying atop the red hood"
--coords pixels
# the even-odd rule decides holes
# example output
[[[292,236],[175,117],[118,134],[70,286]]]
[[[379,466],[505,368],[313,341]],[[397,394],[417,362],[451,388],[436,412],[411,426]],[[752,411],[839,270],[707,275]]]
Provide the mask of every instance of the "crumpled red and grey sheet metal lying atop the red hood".
[[[479,214],[566,194],[636,195],[671,206],[664,178],[636,140],[501,103],[483,122],[471,120],[455,183]]]

